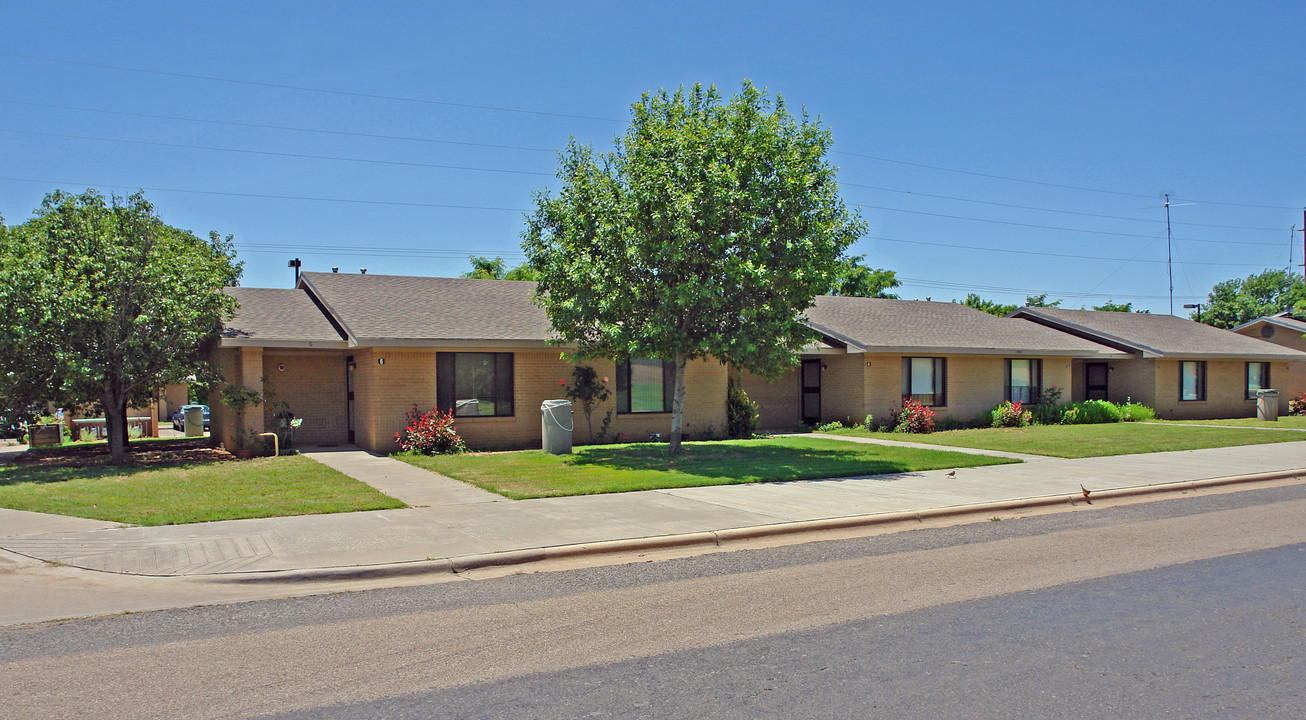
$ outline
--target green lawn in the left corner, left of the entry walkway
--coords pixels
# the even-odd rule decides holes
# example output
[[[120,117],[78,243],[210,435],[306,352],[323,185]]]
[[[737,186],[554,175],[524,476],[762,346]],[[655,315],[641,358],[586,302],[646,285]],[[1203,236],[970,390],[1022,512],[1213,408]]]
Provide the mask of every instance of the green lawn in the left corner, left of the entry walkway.
[[[303,456],[162,466],[0,466],[0,507],[168,525],[404,503]]]

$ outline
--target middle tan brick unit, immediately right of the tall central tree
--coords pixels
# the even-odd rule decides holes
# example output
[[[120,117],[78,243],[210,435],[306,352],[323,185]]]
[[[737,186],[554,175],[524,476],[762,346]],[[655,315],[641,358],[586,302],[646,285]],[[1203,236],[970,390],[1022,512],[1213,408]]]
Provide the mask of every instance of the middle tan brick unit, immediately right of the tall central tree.
[[[1053,385],[1068,395],[1076,361],[1126,357],[959,303],[819,297],[804,315],[821,342],[798,367],[773,382],[742,375],[763,427],[883,421],[909,397],[969,422],[1004,400],[1037,402]]]

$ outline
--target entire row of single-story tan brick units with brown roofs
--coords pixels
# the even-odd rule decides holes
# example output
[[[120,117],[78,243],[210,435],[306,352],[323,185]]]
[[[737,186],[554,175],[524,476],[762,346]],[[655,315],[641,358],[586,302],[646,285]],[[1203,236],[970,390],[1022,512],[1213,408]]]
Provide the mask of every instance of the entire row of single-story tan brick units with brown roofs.
[[[285,401],[303,418],[295,431],[300,444],[353,443],[388,452],[415,404],[453,410],[460,434],[475,450],[539,447],[539,405],[563,397],[562,385],[572,380],[575,363],[550,342],[554,335],[543,310],[532,302],[532,282],[303,273],[294,289],[229,291],[240,308],[223,327],[214,359],[227,383],[269,400],[261,412],[246,413],[246,431],[270,429],[270,401]],[[904,397],[969,421],[1003,400],[1037,400],[1050,385],[1070,388],[1064,400],[1081,399],[1096,392],[1085,382],[1088,368],[1155,359],[1114,338],[1032,320],[995,318],[956,303],[821,297],[806,314],[820,341],[804,349],[798,366],[773,382],[737,375],[760,405],[763,427],[789,429],[801,422],[859,421],[866,414],[885,418]],[[1242,353],[1238,359],[1221,358],[1230,367],[1306,362],[1306,353],[1196,328],[1190,331],[1247,342],[1234,349]],[[610,436],[669,433],[671,387],[660,361],[585,365],[614,389],[594,412],[596,430],[610,414]],[[725,430],[729,372],[714,361],[687,368],[688,436]],[[1153,384],[1141,383],[1138,391],[1124,380],[1147,372],[1113,375],[1109,396],[1123,400],[1132,392],[1138,401],[1160,400],[1162,417],[1254,414],[1254,402],[1225,400],[1246,389],[1246,378],[1234,382],[1225,378],[1230,372],[1218,365],[1203,375],[1203,392],[1212,388],[1215,401],[1182,405],[1168,402],[1158,389],[1147,395],[1148,387],[1160,388],[1158,370],[1152,372]],[[1275,367],[1269,374],[1288,378]],[[1233,389],[1225,388],[1228,383]],[[221,402],[212,405],[213,434],[229,442],[234,416]],[[588,430],[579,410],[576,421],[576,439],[584,442]]]

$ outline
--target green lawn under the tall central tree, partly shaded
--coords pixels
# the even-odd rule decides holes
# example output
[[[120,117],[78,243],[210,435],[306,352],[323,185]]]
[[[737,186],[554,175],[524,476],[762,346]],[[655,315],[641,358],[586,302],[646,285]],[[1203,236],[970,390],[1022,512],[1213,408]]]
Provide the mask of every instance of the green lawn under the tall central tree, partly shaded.
[[[682,448],[678,457],[667,453],[667,446],[652,443],[586,446],[562,456],[525,450],[396,457],[513,499],[905,473],[1011,461],[823,438],[684,443]]]

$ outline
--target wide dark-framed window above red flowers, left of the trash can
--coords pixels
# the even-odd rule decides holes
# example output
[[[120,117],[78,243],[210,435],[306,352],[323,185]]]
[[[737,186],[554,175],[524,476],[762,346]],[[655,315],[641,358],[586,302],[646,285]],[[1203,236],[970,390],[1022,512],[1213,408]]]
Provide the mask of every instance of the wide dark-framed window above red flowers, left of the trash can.
[[[436,353],[435,395],[454,417],[512,416],[512,353]]]

